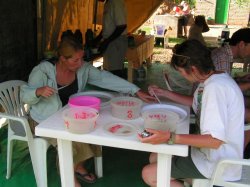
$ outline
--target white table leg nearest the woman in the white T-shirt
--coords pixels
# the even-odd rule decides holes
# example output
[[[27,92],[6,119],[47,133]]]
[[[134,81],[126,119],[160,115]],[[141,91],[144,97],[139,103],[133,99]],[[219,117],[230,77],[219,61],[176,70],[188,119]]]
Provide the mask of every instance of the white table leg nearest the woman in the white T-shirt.
[[[157,187],[169,187],[171,179],[172,155],[158,154],[157,158]]]

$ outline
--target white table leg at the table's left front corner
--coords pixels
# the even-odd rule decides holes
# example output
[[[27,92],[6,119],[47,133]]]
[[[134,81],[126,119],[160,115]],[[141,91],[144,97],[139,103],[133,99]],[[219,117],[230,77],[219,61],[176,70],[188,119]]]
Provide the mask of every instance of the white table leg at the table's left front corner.
[[[75,186],[72,156],[72,142],[57,139],[61,186]]]

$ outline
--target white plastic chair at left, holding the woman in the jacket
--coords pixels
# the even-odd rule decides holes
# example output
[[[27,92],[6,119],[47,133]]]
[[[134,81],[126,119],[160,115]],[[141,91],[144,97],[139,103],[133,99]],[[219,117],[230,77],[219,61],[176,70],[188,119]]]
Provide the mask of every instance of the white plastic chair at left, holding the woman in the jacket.
[[[12,80],[0,83],[0,105],[5,113],[0,118],[8,121],[7,174],[11,176],[13,140],[26,141],[38,187],[47,187],[47,150],[48,142],[39,137],[33,137],[27,120],[27,111],[20,100],[20,86],[24,81]]]

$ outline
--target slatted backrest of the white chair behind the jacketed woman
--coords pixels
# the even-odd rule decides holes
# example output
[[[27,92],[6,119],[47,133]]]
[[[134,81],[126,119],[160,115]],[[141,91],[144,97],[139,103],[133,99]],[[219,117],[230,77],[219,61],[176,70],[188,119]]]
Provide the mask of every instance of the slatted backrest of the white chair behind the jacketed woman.
[[[21,80],[0,83],[0,105],[6,114],[18,117],[27,116],[24,103],[20,99],[20,87],[24,84],[27,83]],[[26,136],[25,130],[19,122],[9,120],[8,123],[15,134]]]

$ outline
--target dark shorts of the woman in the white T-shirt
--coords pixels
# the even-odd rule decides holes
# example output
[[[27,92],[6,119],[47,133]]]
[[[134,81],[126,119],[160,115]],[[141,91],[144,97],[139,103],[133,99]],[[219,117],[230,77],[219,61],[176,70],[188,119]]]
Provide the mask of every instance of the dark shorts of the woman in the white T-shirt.
[[[206,179],[194,165],[191,156],[174,156],[171,165],[171,177],[174,179]]]

